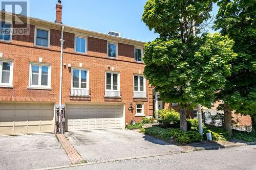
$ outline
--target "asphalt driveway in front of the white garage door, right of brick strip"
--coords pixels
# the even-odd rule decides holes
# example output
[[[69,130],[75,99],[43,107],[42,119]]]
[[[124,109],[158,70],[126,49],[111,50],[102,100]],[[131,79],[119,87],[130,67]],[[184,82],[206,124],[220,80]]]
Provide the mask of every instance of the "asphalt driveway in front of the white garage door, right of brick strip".
[[[139,158],[161,154],[174,154],[182,148],[131,130],[69,132],[65,134],[84,160]]]

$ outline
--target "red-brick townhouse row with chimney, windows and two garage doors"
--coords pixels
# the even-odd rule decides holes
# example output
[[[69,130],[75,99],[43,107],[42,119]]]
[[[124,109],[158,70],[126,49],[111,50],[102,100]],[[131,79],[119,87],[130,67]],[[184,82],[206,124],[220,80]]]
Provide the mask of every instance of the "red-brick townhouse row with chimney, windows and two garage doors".
[[[65,131],[124,128],[153,116],[144,42],[62,25],[61,10],[59,1],[55,23],[29,18],[29,36],[0,34],[0,135],[55,132],[59,101]],[[18,27],[11,19],[0,22]]]

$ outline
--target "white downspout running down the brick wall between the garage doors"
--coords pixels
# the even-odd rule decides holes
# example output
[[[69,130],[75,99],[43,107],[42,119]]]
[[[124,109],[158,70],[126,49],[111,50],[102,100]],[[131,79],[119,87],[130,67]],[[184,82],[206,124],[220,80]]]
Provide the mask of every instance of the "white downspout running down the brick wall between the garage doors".
[[[62,97],[62,67],[63,67],[63,32],[64,32],[64,26],[62,26],[61,30],[61,39],[60,39],[60,77],[59,77],[59,128],[61,126],[61,97]],[[63,131],[63,129],[62,129]]]

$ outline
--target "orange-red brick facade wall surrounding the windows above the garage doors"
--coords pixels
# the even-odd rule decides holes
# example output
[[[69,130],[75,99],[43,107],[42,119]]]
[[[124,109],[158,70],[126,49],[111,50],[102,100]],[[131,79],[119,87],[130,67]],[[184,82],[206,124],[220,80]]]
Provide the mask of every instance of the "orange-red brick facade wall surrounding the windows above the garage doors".
[[[13,88],[0,88],[1,102],[58,102],[59,95],[59,75],[60,75],[60,42],[61,31],[50,29],[50,47],[34,46],[34,30],[33,25],[30,26],[29,36],[13,36],[12,42],[0,41],[0,52],[4,54],[3,59],[12,59],[14,61],[13,71]],[[133,113],[128,110],[133,100],[133,75],[143,73],[144,64],[134,62],[134,46],[118,43],[118,59],[108,58],[107,40],[87,37],[88,38],[88,54],[78,54],[74,50],[75,34],[64,32],[65,39],[63,49],[63,63],[67,67],[63,68],[63,89],[62,103],[94,103],[94,104],[125,104],[125,122],[135,118],[135,110]],[[38,62],[38,58],[42,58],[42,63],[51,64],[51,90],[34,90],[27,89],[29,84],[29,63]],[[1,60],[1,58],[0,58]],[[89,88],[91,90],[91,100],[72,100],[70,98],[71,88],[71,69],[82,68],[90,70]],[[118,102],[104,101],[105,90],[105,71],[108,71],[108,65],[114,67],[114,71],[120,73],[120,91],[122,99]],[[144,104],[144,112],[146,116],[153,115],[153,99],[152,87],[146,82],[146,92],[148,94],[147,101]],[[140,120],[141,117],[136,117]]]

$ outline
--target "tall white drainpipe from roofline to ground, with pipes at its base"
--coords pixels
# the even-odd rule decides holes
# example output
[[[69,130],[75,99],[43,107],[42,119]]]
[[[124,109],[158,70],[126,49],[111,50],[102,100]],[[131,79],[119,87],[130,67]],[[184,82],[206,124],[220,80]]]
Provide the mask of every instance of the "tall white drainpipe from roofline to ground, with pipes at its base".
[[[61,113],[62,114],[59,114],[59,128],[60,126],[62,126],[60,129],[61,129],[61,133],[64,133],[64,124],[61,123],[61,117],[63,119],[64,117],[64,111],[63,109],[65,108],[62,108],[61,106],[61,98],[62,98],[62,67],[63,67],[63,44],[64,44],[64,39],[63,39],[63,32],[64,32],[64,26],[62,26],[62,29],[61,29],[61,39],[59,40],[60,41],[60,77],[59,77],[59,108],[61,109]],[[60,132],[60,129],[59,129],[59,132]]]

